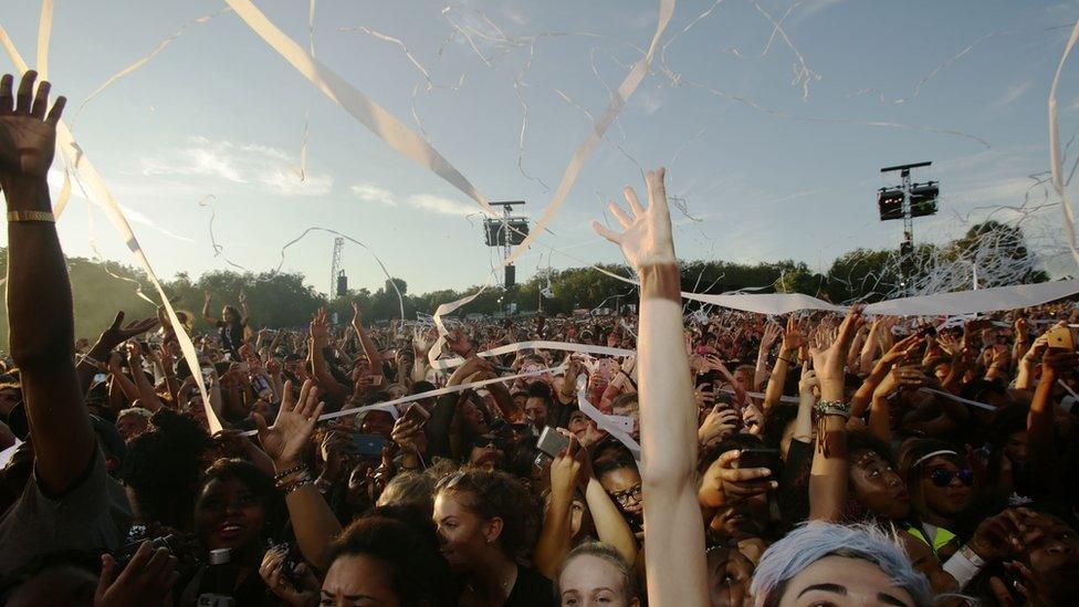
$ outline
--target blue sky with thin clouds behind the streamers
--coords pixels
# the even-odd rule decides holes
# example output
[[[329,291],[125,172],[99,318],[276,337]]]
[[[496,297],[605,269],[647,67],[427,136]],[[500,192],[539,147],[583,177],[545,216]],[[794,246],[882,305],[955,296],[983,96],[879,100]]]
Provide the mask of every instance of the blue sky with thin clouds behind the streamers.
[[[306,46],[306,1],[256,3]],[[481,191],[527,200],[536,217],[552,197],[544,184],[554,188],[589,130],[588,113],[604,111],[607,87],[647,46],[657,6],[319,0],[315,51],[419,129],[415,108],[430,142]],[[69,121],[111,75],[223,7],[57,0],[50,75],[70,98]],[[0,23],[27,57],[39,10],[35,0],[0,4]],[[765,13],[786,13],[774,38]],[[943,198],[937,217],[915,224],[915,240],[953,238],[991,214],[1022,216],[1050,266],[1071,272],[1057,254],[1059,207],[1006,207],[1022,206],[1029,176],[1048,170],[1046,100],[1076,19],[1079,2],[682,0],[662,64],[588,160],[551,233],[518,263],[518,280],[548,263],[618,261],[588,221],[624,186],[641,186],[641,167],[659,165],[689,211],[675,212],[683,258],[795,259],[817,269],[855,247],[898,247],[901,224],[877,219],[876,189],[890,184],[879,168],[919,160],[933,160],[918,177],[941,180]],[[434,86],[401,46],[357,28],[402,41]],[[471,42],[451,36],[458,28]],[[500,31],[514,43],[497,42]],[[537,35],[547,33],[566,35]],[[515,81],[527,106],[527,176]],[[1067,143],[1079,128],[1076,62],[1058,96]],[[224,258],[273,269],[281,248],[314,226],[367,243],[415,292],[476,284],[491,269],[474,202],[353,121],[230,12],[187,27],[91,101],[74,133],[161,276],[228,269]],[[217,213],[218,257],[205,200]],[[1031,190],[1027,209],[1043,201]],[[96,238],[104,257],[130,262],[98,211],[91,229],[85,200],[76,197],[67,213],[60,229],[69,254],[92,257]],[[283,268],[325,291],[331,250],[331,236],[313,233],[289,249]],[[353,286],[384,280],[359,247],[346,244],[344,266]]]

